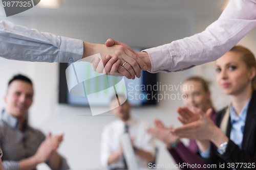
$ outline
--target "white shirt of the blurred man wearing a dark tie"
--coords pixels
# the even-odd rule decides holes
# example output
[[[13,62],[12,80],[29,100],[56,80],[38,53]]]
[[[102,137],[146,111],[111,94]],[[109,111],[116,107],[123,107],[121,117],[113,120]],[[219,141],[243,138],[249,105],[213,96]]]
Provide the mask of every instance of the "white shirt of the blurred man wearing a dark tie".
[[[153,137],[146,132],[149,127],[147,123],[131,118],[126,122],[129,127],[129,134],[134,139],[134,146],[146,152],[155,155],[155,142]],[[124,160],[120,157],[115,163],[108,166],[108,159],[110,154],[117,152],[120,149],[120,137],[125,131],[125,123],[117,119],[114,122],[106,125],[101,136],[101,154],[100,160],[102,166],[105,168],[123,168]],[[139,166],[148,167],[148,161],[136,155]]]

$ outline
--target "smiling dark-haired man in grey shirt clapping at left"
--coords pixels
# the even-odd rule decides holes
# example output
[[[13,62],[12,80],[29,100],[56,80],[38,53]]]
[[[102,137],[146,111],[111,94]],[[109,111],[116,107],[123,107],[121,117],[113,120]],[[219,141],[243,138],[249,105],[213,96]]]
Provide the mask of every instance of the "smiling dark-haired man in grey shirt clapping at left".
[[[57,149],[62,135],[46,137],[29,126],[28,110],[33,103],[33,84],[23,75],[14,76],[8,83],[4,98],[6,108],[0,120],[0,148],[5,170],[32,170],[46,162],[51,169],[69,169]]]

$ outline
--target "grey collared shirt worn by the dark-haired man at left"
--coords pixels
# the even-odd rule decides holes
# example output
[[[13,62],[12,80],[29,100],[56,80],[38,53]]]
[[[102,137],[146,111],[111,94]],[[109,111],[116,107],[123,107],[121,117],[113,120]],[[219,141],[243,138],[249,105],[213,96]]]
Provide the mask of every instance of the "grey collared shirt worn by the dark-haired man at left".
[[[0,148],[3,150],[3,165],[5,170],[19,170],[19,161],[33,156],[46,136],[25,125],[24,132],[19,130],[16,117],[2,112],[0,119]],[[61,157],[61,156],[60,156]],[[50,163],[46,162],[49,167]],[[61,157],[60,170],[69,169],[66,159]]]

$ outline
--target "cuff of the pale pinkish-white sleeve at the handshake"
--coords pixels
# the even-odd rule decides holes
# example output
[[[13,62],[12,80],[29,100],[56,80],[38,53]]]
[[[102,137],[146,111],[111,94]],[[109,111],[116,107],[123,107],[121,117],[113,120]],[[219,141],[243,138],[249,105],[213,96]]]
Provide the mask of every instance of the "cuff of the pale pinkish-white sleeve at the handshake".
[[[170,69],[172,66],[172,57],[170,56],[168,49],[163,45],[148,48],[142,52],[147,52],[148,56],[150,57],[152,68],[151,71],[148,72],[170,72],[168,69]]]

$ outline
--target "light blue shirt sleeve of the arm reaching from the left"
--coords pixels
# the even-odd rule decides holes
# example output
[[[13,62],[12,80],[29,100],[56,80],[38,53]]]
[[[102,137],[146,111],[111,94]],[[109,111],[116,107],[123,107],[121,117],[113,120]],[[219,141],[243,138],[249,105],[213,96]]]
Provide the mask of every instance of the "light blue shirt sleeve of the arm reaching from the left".
[[[83,55],[83,41],[0,21],[0,57],[20,61],[72,63]]]

